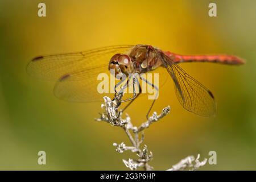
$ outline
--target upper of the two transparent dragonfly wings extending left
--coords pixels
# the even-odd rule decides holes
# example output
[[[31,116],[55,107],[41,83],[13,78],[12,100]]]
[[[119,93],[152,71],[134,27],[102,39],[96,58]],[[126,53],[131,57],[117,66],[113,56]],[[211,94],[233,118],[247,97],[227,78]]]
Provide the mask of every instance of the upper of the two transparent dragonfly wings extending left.
[[[28,63],[27,72],[43,80],[57,80],[67,73],[80,71],[81,68],[88,71],[102,67],[108,69],[109,60],[115,53],[125,53],[131,47],[109,46],[82,52],[38,56]]]

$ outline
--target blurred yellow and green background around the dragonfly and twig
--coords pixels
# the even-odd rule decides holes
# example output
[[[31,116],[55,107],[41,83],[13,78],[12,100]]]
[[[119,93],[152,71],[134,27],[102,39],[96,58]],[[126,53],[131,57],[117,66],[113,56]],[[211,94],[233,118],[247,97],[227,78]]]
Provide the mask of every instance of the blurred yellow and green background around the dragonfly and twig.
[[[38,3],[46,3],[46,17]],[[217,17],[208,16],[210,2]],[[84,51],[116,44],[150,44],[180,54],[228,53],[245,65],[180,64],[214,94],[217,115],[199,117],[184,110],[172,80],[163,86],[153,110],[171,113],[145,132],[164,170],[188,155],[217,152],[217,165],[201,169],[256,169],[256,1],[0,1],[0,169],[123,170],[130,152],[119,127],[96,122],[101,103],[75,104],[52,94],[55,82],[26,73],[35,56]],[[127,109],[135,125],[146,120],[150,102],[138,98]],[[148,103],[148,104],[147,104]],[[47,165],[38,165],[38,151]]]

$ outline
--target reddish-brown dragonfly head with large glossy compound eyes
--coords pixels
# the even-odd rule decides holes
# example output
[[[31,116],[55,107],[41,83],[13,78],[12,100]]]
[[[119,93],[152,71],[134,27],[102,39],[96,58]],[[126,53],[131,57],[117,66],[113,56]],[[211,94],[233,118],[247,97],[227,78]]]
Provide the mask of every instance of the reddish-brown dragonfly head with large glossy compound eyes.
[[[128,55],[121,55],[120,53],[115,54],[109,61],[109,70],[114,69],[115,75],[118,73],[124,73],[128,75],[133,73],[134,66],[131,58]]]

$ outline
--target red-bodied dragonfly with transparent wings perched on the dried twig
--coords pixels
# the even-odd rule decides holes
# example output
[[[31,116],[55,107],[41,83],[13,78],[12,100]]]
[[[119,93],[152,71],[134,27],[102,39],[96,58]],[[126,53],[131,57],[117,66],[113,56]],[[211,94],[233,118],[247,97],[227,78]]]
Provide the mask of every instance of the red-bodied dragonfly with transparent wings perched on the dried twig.
[[[37,56],[28,63],[27,72],[39,79],[56,81],[53,92],[57,98],[74,102],[92,102],[102,98],[97,92],[99,73],[109,73],[110,69],[114,69],[115,73],[129,75],[129,73],[158,72],[164,69],[174,81],[177,100],[184,109],[204,117],[214,115],[216,102],[213,93],[178,65],[187,62],[229,65],[245,63],[243,59],[234,55],[179,55],[150,45],[137,44]],[[155,88],[154,84],[140,78]],[[139,89],[138,94],[134,93],[133,97],[123,100],[123,102],[130,101],[127,106],[141,94],[140,85]],[[154,102],[155,100],[150,110]]]

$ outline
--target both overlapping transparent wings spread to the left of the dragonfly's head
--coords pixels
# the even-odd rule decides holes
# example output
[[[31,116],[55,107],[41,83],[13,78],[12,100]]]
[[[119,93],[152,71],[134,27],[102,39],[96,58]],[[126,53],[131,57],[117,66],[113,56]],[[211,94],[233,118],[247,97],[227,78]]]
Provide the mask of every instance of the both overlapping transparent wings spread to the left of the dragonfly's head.
[[[110,46],[84,52],[39,56],[28,64],[27,72],[37,78],[55,80],[54,94],[62,100],[102,101],[103,94],[97,89],[101,82],[98,75],[102,73],[105,78],[110,78],[110,58],[115,53],[126,53],[131,47]],[[104,96],[108,94],[104,93]]]

